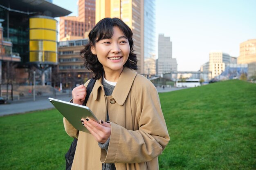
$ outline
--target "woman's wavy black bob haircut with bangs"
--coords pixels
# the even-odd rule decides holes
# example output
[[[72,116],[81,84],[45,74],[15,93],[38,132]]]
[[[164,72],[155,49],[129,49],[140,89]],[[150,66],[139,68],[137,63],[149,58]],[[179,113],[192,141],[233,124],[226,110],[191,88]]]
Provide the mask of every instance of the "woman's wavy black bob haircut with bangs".
[[[97,55],[92,54],[91,47],[96,42],[103,39],[111,38],[113,35],[113,27],[117,26],[126,36],[130,46],[130,54],[128,60],[124,64],[126,67],[137,70],[137,56],[133,50],[132,30],[119,18],[104,18],[100,20],[90,31],[89,41],[85,48],[80,51],[81,57],[84,59],[83,65],[88,70],[94,73],[94,79],[102,77],[104,70],[102,64],[99,62]]]

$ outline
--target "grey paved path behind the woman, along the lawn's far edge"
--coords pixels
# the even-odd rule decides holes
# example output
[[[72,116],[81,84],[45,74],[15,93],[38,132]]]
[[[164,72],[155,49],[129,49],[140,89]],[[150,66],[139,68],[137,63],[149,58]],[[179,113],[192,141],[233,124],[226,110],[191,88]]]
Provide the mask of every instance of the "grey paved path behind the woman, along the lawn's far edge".
[[[164,93],[169,91],[177,91],[182,90],[184,88],[157,88],[158,93]],[[69,102],[72,98],[69,94],[65,95],[56,95],[54,96],[44,96],[44,97],[36,97],[36,101],[30,99],[29,101],[10,101],[10,104],[0,104],[0,117],[4,115],[18,114],[18,113],[26,113],[36,110],[45,110],[54,108],[54,106],[48,101],[48,98],[56,98],[63,101]]]

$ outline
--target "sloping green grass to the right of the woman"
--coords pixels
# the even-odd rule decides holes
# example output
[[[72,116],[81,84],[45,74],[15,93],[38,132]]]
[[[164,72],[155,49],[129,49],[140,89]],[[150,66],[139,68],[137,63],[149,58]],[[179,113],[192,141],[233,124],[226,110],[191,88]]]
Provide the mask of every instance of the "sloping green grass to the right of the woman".
[[[256,84],[230,80],[159,96],[171,137],[162,170],[256,169]]]

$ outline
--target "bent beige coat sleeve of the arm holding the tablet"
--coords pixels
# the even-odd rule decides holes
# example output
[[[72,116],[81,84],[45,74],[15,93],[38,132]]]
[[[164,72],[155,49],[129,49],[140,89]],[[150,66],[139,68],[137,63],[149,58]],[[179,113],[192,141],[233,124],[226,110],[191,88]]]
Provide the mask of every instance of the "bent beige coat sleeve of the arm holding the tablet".
[[[127,130],[110,122],[110,144],[108,152],[101,150],[102,163],[150,161],[162,154],[170,140],[155,86],[150,82],[135,93],[139,129]]]

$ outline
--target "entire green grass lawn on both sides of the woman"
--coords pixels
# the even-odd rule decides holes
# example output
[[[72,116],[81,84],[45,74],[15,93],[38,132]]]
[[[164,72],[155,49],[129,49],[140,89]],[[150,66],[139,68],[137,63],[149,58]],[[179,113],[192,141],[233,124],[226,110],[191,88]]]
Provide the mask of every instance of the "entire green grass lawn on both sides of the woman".
[[[171,141],[161,170],[256,170],[256,84],[159,93]],[[0,117],[1,170],[63,170],[71,144],[57,110]]]

